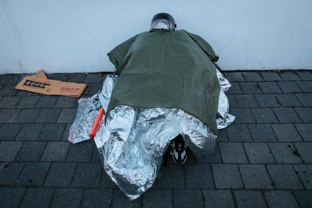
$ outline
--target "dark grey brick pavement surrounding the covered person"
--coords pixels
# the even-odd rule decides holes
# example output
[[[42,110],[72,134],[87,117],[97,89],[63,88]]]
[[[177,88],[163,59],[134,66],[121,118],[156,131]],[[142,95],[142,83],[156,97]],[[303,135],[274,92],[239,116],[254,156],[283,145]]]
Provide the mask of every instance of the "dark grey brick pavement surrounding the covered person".
[[[78,98],[17,91],[0,75],[0,207],[312,207],[312,71],[226,72],[234,124],[214,154],[162,167],[129,202],[103,171],[94,141],[67,141]],[[55,74],[88,83],[105,75]]]

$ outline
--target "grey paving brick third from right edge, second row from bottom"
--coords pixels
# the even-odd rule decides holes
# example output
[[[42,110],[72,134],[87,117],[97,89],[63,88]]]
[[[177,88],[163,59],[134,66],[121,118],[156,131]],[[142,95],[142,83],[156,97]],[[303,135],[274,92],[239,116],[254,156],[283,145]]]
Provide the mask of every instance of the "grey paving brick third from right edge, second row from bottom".
[[[264,165],[239,165],[246,189],[273,189]]]

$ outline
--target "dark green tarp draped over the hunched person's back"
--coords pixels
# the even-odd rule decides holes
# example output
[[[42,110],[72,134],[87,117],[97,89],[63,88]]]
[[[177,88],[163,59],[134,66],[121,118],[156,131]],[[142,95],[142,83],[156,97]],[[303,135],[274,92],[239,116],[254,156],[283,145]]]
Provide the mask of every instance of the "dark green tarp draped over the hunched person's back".
[[[185,30],[140,33],[108,53],[119,75],[107,114],[117,105],[175,108],[203,121],[215,134],[220,85],[218,57]]]

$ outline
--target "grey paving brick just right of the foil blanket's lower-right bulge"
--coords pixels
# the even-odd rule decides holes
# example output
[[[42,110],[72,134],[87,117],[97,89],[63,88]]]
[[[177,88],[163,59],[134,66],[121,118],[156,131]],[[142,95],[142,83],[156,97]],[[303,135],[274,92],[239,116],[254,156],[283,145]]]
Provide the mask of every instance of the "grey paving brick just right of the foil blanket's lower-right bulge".
[[[219,143],[221,158],[224,163],[248,163],[241,143]]]

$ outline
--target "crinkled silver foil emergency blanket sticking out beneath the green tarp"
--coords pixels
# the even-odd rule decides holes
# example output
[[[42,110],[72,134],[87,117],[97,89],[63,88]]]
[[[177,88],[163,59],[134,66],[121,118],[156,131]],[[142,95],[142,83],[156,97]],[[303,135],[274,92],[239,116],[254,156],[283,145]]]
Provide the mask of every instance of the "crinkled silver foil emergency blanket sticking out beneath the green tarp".
[[[221,91],[216,122],[221,129],[230,125],[235,117],[228,113],[229,103],[224,94],[231,84],[219,71],[217,76]],[[99,110],[98,100],[106,112],[116,81],[117,76],[107,76],[101,92],[79,100],[77,118],[69,135],[73,143],[89,139],[95,112]],[[91,125],[80,123],[86,121]],[[152,187],[162,155],[178,134],[195,156],[208,155],[215,150],[217,136],[202,121],[181,109],[117,106],[107,115],[106,125],[100,127],[95,142],[104,170],[126,196],[134,200]]]

